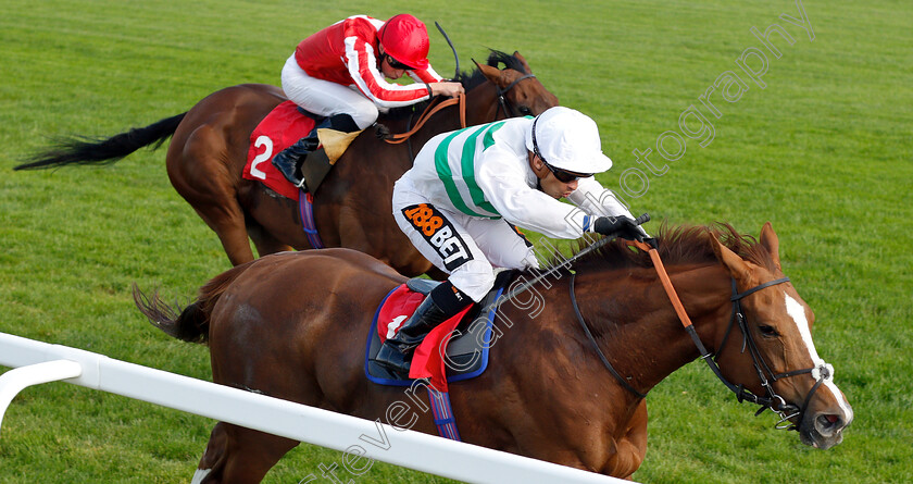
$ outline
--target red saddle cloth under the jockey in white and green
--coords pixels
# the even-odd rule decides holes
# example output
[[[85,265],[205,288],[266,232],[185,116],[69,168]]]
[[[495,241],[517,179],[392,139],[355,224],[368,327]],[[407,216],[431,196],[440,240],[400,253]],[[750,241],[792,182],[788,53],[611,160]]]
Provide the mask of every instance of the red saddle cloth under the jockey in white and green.
[[[398,287],[387,297],[384,307],[377,314],[377,333],[380,342],[393,337],[402,323],[415,312],[415,308],[425,300],[425,295],[409,289],[405,284]],[[472,305],[460,311],[453,318],[445,321],[427,336],[415,348],[412,356],[412,365],[409,370],[410,378],[430,378],[432,385],[440,392],[447,392],[447,373],[445,370],[443,355],[447,352],[447,344],[450,335],[460,324],[460,321],[470,312]]]

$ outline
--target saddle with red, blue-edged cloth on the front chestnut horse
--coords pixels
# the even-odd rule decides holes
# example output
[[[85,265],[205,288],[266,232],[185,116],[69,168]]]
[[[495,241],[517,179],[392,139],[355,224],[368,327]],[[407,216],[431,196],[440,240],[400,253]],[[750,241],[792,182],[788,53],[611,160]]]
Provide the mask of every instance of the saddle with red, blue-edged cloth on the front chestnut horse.
[[[414,312],[428,293],[440,282],[413,278],[391,290],[380,302],[371,324],[365,349],[364,371],[379,385],[409,386],[417,378],[430,378],[435,388],[447,392],[448,382],[460,382],[480,375],[488,368],[492,326],[497,306],[516,271],[502,271],[495,287],[481,300],[433,330],[415,349],[409,378],[400,380],[374,362],[380,346]],[[440,351],[439,348],[446,348]],[[441,357],[441,352],[446,355]]]

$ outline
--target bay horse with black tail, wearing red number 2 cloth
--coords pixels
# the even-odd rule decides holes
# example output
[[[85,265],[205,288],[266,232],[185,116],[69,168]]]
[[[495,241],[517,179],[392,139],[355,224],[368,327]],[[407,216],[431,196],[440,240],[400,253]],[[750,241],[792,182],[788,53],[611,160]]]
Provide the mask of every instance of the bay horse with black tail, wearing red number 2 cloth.
[[[474,72],[459,74],[458,80],[466,89],[468,125],[536,115],[558,104],[518,52],[492,51],[487,65],[477,64]],[[184,114],[142,128],[101,140],[65,140],[16,170],[110,164],[145,146],[158,147],[173,135],[165,162],[168,178],[218,235],[232,264],[253,260],[248,236],[260,256],[310,249],[298,202],[241,177],[251,132],[285,100],[282,89],[273,86],[229,87]],[[379,123],[392,133],[404,133],[417,117],[415,111],[421,113],[425,106],[392,110]],[[373,131],[362,133],[314,194],[314,219],[324,246],[370,253],[405,275],[432,270],[393,221],[393,182],[412,166],[412,157],[428,139],[459,127],[459,111],[451,107],[435,114],[409,144],[390,145]]]

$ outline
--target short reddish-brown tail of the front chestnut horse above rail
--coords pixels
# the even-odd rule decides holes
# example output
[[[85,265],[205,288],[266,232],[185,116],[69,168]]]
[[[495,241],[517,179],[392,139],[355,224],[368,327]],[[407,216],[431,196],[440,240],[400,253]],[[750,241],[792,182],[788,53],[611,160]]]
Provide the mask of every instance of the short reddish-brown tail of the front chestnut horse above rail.
[[[200,288],[196,301],[186,308],[168,306],[155,291],[147,297],[134,283],[134,303],[153,326],[177,339],[205,344],[209,342],[210,314],[225,289],[243,273],[251,262],[238,265],[212,278]]]

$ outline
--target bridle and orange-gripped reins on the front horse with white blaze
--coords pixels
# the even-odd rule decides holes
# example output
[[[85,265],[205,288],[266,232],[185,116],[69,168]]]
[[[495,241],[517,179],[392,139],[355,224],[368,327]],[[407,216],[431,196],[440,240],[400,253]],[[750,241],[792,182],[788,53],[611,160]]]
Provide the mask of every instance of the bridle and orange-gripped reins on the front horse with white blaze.
[[[776,429],[798,431],[799,426],[797,424],[790,423],[789,419],[798,417],[797,422],[801,424],[802,419],[805,414],[805,410],[809,408],[809,402],[811,401],[812,396],[815,394],[815,392],[822,383],[824,383],[826,380],[833,376],[834,369],[831,365],[822,361],[822,363],[815,368],[793,370],[775,374],[771,370],[771,367],[767,364],[767,362],[764,360],[764,357],[763,355],[761,355],[761,351],[758,349],[754,336],[752,336],[751,332],[748,330],[748,325],[746,322],[747,319],[741,307],[741,300],[746,296],[754,294],[766,287],[789,282],[789,277],[781,277],[768,281],[766,283],[762,283],[758,286],[747,289],[742,293],[739,293],[737,290],[736,281],[733,280],[733,296],[729,298],[729,300],[733,301],[733,314],[729,319],[729,325],[726,328],[726,333],[723,336],[723,342],[720,345],[720,350],[722,351],[723,348],[725,348],[726,339],[729,337],[729,333],[731,332],[736,323],[738,323],[739,331],[741,331],[742,333],[742,352],[745,352],[746,348],[749,349],[752,362],[754,364],[754,370],[758,373],[758,377],[761,380],[761,386],[764,388],[765,392],[764,396],[760,396],[745,388],[745,385],[735,385],[723,376],[723,373],[721,372],[720,367],[716,363],[716,358],[720,357],[720,353],[717,352],[717,355],[714,357],[714,355],[708,351],[706,348],[703,346],[703,343],[701,342],[697,331],[691,324],[688,314],[685,313],[685,308],[681,306],[681,301],[678,299],[678,295],[672,287],[672,282],[668,278],[668,274],[666,274],[665,272],[665,268],[663,266],[662,261],[660,260],[659,252],[656,252],[656,249],[653,246],[645,244],[642,241],[629,241],[628,244],[634,245],[635,247],[638,247],[641,250],[647,250],[650,253],[650,257],[653,260],[653,265],[656,269],[656,273],[660,275],[660,280],[663,283],[663,287],[666,289],[666,295],[670,297],[670,300],[675,307],[676,313],[678,313],[678,317],[681,320],[685,330],[691,336],[691,340],[695,343],[695,346],[697,346],[698,351],[700,351],[701,359],[703,359],[706,362],[708,367],[710,367],[710,369],[713,371],[716,377],[720,378],[720,381],[723,382],[723,384],[726,385],[726,387],[729,388],[729,390],[736,394],[736,398],[739,402],[750,401],[752,404],[761,406],[761,408],[754,413],[755,415],[761,414],[761,412],[763,412],[766,409],[771,409],[771,411],[773,411],[780,418],[780,420],[775,424]],[[577,298],[574,294],[574,280],[575,274],[572,272],[570,281],[571,303],[574,307],[574,312],[577,315],[577,321],[584,328],[584,333],[586,334],[592,347],[596,349],[597,355],[599,355],[599,359],[602,360],[602,364],[609,370],[609,372],[615,377],[615,380],[617,380],[622,384],[622,386],[624,386],[637,397],[645,398],[645,394],[635,389],[634,386],[631,386],[631,384],[627,381],[627,378],[623,377],[612,367],[612,364],[609,362],[609,359],[605,358],[605,355],[602,353],[602,350],[596,343],[596,338],[593,338],[592,333],[589,331],[586,321],[584,321],[584,318],[580,314],[580,309],[577,306]],[[814,374],[815,372],[817,373],[817,375]],[[801,408],[797,408],[795,405],[787,404],[786,399],[784,399],[779,394],[777,394],[773,387],[773,382],[776,382],[779,378],[787,378],[790,376],[797,376],[806,373],[812,373],[812,376],[815,377],[816,382],[814,386],[812,386],[812,388],[809,390],[809,394],[805,396]]]

